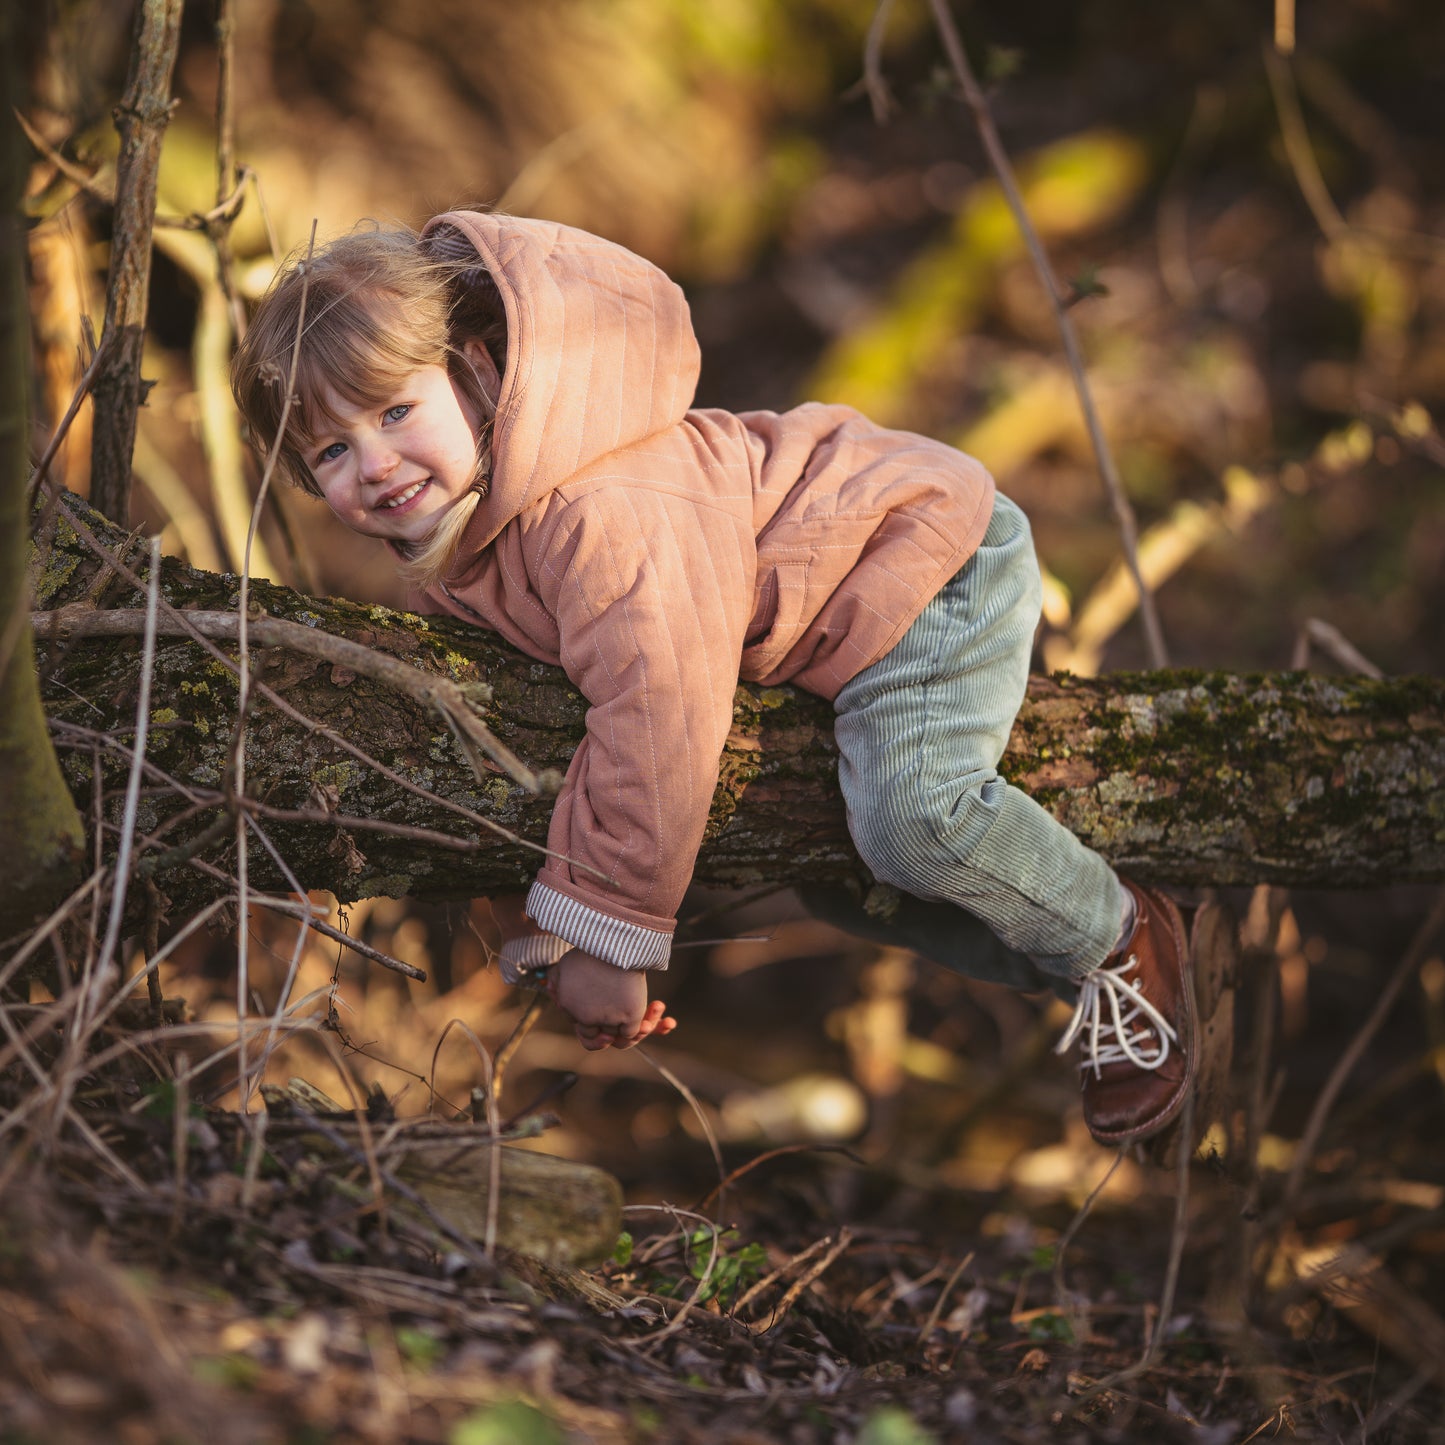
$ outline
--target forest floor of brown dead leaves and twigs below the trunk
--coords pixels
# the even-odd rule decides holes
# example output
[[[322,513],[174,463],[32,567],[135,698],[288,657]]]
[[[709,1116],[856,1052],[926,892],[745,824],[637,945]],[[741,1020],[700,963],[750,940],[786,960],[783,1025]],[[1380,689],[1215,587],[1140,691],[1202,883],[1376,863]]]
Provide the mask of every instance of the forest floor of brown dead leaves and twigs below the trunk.
[[[1376,897],[1355,942],[1373,929],[1397,946],[1422,902]],[[1308,910],[1296,902],[1305,944]],[[1302,1121],[1384,971],[1371,983],[1351,926],[1334,925],[1329,961],[1311,970],[1312,1025],[1289,1040],[1286,1017],[1263,1069],[1257,996],[1241,991],[1233,1117],[1248,1123],[1264,1081],[1267,1127],[1254,1169],[1217,1136],[1182,1209],[1175,1169],[1127,1157],[1081,1217],[1114,1156],[1082,1131],[1068,1066],[1043,1046],[1056,1017],[952,978],[920,985],[910,1038],[942,1000],[955,1025],[970,1010],[988,1022],[993,1048],[978,1027],[952,1085],[913,1059],[847,1144],[724,1140],[714,1159],[678,1126],[692,1103],[634,1058],[551,1101],[561,1121],[536,1146],[610,1166],[629,1201],[623,1246],[587,1270],[488,1256],[379,1211],[361,1156],[318,1165],[275,1124],[253,1149],[254,1129],[179,1107],[147,1075],[149,1046],[130,1052],[77,1087],[88,1139],[65,1130],[29,1169],[10,1156],[0,1441],[1442,1441],[1429,1007],[1399,1010],[1371,1043],[1283,1201]],[[1286,1014],[1300,1006],[1289,957]],[[828,968],[840,959],[799,961],[788,991],[827,993]],[[841,972],[867,984],[847,958]],[[704,970],[681,983],[702,1010],[695,1045],[737,1056],[746,1020],[712,1009],[711,988]],[[747,988],[734,993],[746,1010]],[[539,1029],[519,1061],[564,1043]],[[670,1043],[653,1056],[679,1075],[691,1064],[705,1092],[698,1056]],[[519,1077],[519,1097],[566,1081]],[[3,1082],[6,1107],[33,1117],[16,1069]],[[725,1110],[698,1107],[721,1127]]]

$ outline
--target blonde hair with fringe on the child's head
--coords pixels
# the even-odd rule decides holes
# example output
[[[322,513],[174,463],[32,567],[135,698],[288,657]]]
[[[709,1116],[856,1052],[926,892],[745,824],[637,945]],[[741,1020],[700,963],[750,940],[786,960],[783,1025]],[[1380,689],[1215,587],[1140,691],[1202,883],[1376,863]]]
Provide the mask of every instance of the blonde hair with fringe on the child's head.
[[[318,497],[321,488],[306,457],[315,438],[338,422],[328,397],[380,406],[413,371],[447,368],[483,423],[471,490],[402,565],[402,575],[423,587],[435,585],[451,569],[491,473],[497,397],[462,354],[468,340],[487,347],[499,376],[506,370],[501,298],[465,236],[454,227],[419,237],[402,227],[368,225],[309,257],[293,256],[262,298],[231,363],[231,390],[251,445],[266,455],[279,435],[277,471]]]

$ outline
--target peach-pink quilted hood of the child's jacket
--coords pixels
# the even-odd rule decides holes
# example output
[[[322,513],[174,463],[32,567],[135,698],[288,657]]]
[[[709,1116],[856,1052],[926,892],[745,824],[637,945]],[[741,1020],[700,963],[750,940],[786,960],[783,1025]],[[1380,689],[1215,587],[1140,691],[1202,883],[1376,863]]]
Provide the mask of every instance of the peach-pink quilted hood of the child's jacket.
[[[699,353],[681,288],[652,262],[555,221],[480,211],[434,217],[477,247],[507,315],[491,487],[464,549],[620,447],[692,406]]]

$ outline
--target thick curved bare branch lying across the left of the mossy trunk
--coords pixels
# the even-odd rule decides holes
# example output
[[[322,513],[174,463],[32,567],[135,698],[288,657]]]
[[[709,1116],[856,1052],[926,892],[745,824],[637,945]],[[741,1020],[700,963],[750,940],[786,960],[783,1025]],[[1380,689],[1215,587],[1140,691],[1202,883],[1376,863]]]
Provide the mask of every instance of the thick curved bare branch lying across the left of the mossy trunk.
[[[185,610],[163,618],[160,631],[168,637],[189,636],[194,627],[207,637],[220,642],[238,642],[243,631],[241,613]],[[182,623],[179,618],[185,618]],[[30,621],[38,631],[55,630],[69,637],[129,637],[140,631],[143,613],[136,608],[98,610],[82,603],[72,603],[55,611],[32,613]],[[189,624],[189,627],[186,626]],[[347,668],[360,676],[381,682],[435,708],[448,722],[457,727],[468,743],[478,747],[517,786],[533,796],[542,796],[548,783],[527,767],[473,711],[471,699],[460,683],[451,678],[423,672],[409,662],[390,653],[379,652],[366,643],[340,637],[335,633],[319,631],[305,623],[293,623],[285,617],[250,617],[244,631],[262,647],[286,647],[290,652],[318,657],[322,662]],[[488,689],[490,695],[490,689]],[[473,769],[477,770],[475,767]],[[478,782],[484,777],[478,776]]]

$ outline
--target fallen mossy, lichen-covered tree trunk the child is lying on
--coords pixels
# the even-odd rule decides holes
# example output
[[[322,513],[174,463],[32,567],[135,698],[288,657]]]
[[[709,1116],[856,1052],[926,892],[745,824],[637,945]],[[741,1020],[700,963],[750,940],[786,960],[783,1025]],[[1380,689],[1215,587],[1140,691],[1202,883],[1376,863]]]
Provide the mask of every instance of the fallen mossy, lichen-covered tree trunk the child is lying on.
[[[69,499],[64,509],[100,526]],[[64,526],[62,532],[69,529]],[[111,543],[120,533],[111,529]],[[95,564],[71,536],[43,568],[42,605],[84,598]],[[165,592],[185,608],[234,608],[237,579],[178,562]],[[111,607],[136,608],[134,591],[111,584]],[[566,676],[451,618],[416,618],[380,607],[321,601],[257,584],[273,618],[337,633],[454,681],[490,688],[481,717],[536,769],[565,769],[582,734],[585,704]],[[133,725],[137,688],[136,614],[120,636],[85,636],[114,624],[94,611],[51,614],[38,629],[48,707],[65,727],[114,734]],[[175,623],[166,624],[172,630]],[[260,623],[257,624],[262,626]],[[234,653],[234,647],[228,649]],[[289,649],[254,649],[256,679],[292,707],[367,750],[399,779],[474,809],[532,842],[546,837],[551,802],[501,773],[478,782],[444,721],[423,702]],[[158,649],[150,757],[191,789],[220,793],[233,730],[236,678],[192,642]],[[484,691],[477,695],[484,695]],[[866,879],[837,790],[832,714],[792,688],[740,686],[734,727],[699,883]],[[68,734],[66,773],[88,796],[91,733]],[[110,754],[107,789],[124,757]],[[1305,673],[1139,673],[1098,679],[1036,678],[1001,770],[1114,864],[1140,879],[1182,884],[1282,883],[1368,886],[1445,879],[1445,681],[1371,682]],[[337,744],[259,701],[247,725],[251,796],[272,809],[331,809],[363,821],[429,828],[468,840],[471,851],[364,831],[360,825],[272,821],[296,876],[341,899],[413,894],[444,899],[513,890],[539,857],[501,842],[444,806],[426,802],[341,751]],[[144,829],[179,811],[155,792]],[[114,814],[114,808],[107,808]],[[171,848],[217,816],[199,809]],[[340,837],[345,834],[345,837]],[[225,844],[202,857],[230,867]],[[279,884],[263,853],[251,876]],[[176,903],[214,894],[217,881],[178,866],[160,884]]]

